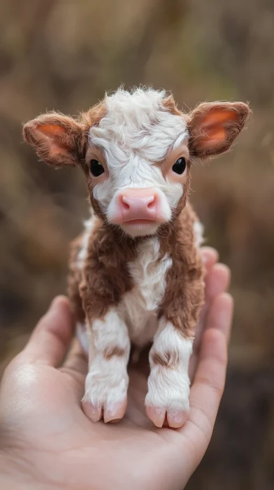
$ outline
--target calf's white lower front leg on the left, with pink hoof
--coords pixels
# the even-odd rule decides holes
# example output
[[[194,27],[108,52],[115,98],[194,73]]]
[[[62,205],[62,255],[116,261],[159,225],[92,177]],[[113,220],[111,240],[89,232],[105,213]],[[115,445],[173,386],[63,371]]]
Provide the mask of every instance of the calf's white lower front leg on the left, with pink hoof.
[[[116,307],[87,326],[89,372],[82,409],[96,422],[119,421],[127,409],[129,334]]]

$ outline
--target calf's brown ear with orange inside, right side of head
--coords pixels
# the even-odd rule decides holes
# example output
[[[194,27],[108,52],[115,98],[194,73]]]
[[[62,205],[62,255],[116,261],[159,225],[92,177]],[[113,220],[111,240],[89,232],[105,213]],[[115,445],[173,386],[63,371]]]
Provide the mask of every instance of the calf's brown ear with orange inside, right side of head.
[[[250,109],[243,102],[203,103],[189,113],[189,151],[210,158],[229,150],[245,125]]]

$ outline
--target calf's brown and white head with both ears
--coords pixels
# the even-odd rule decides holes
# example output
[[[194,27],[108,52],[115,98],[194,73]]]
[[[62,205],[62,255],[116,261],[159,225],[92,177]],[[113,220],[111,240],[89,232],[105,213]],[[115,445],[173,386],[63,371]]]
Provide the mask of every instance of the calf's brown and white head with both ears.
[[[164,91],[118,89],[77,119],[38,116],[24,125],[24,139],[53,167],[82,167],[96,214],[137,237],[178,216],[192,158],[227,151],[248,113],[241,102],[182,113]]]

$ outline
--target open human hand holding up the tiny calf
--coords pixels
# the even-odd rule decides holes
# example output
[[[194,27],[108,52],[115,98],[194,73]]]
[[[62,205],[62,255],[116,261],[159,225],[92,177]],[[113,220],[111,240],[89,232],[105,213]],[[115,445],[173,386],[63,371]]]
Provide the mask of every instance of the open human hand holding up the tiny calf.
[[[0,488],[182,490],[212,435],[224,390],[233,311],[226,293],[229,269],[217,263],[212,248],[204,247],[202,253],[206,305],[189,366],[192,387],[185,425],[156,428],[145,416],[147,353],[129,367],[124,419],[117,424],[87,419],[80,406],[87,360],[73,340],[69,301],[59,296],[3,374]]]

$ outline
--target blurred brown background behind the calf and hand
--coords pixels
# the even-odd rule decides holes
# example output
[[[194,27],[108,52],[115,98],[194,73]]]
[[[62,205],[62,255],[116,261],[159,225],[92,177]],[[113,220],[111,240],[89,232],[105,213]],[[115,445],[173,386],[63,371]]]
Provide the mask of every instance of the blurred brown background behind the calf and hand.
[[[191,200],[232,269],[236,315],[215,432],[187,489],[273,489],[273,0],[1,0],[0,73],[0,375],[66,292],[88,214],[82,174],[38,162],[22,123],[75,115],[120,83],[171,90],[185,111],[250,102],[233,151],[194,167]]]

